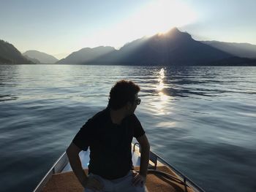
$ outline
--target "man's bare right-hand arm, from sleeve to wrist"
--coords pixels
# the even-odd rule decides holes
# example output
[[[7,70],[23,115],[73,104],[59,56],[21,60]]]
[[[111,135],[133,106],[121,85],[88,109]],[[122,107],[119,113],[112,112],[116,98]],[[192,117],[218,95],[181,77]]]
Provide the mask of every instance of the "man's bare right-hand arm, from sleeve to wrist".
[[[140,143],[141,147],[141,154],[140,154],[140,174],[146,177],[148,172],[148,161],[149,161],[149,150],[150,145],[148,143],[148,138],[146,134],[137,138],[138,142]]]

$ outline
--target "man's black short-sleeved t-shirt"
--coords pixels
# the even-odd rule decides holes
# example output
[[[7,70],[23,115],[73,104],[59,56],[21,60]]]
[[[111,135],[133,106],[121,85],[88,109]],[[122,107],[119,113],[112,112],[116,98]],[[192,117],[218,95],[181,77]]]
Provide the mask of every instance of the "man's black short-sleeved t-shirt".
[[[81,150],[90,147],[89,173],[113,180],[124,177],[132,168],[132,137],[143,134],[145,131],[135,114],[117,125],[112,123],[107,107],[90,118],[72,142]]]

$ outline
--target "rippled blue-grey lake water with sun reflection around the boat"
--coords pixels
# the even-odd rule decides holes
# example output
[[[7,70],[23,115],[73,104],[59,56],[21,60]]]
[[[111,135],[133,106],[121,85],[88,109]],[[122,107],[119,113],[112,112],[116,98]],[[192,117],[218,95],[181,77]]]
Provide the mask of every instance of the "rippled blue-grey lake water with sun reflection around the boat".
[[[117,80],[151,150],[206,191],[256,191],[256,67],[0,66],[0,191],[32,191]]]

